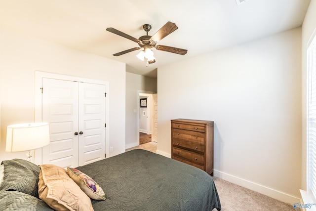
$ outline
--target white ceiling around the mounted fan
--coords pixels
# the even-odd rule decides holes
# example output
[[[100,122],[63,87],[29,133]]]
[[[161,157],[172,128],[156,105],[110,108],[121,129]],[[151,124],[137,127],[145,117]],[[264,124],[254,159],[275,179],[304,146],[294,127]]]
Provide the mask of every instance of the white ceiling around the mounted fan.
[[[126,63],[126,71],[157,77],[157,67],[300,27],[310,0],[0,0],[0,26]],[[156,63],[136,58],[132,37],[154,35],[167,21],[178,29],[158,42],[188,49],[184,56],[154,49]]]

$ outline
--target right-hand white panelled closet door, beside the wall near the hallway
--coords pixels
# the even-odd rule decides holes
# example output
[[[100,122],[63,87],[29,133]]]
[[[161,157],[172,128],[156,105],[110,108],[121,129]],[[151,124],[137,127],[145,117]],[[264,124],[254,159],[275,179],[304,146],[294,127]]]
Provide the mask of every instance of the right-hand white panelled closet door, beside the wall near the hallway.
[[[105,158],[105,85],[79,84],[79,166]]]

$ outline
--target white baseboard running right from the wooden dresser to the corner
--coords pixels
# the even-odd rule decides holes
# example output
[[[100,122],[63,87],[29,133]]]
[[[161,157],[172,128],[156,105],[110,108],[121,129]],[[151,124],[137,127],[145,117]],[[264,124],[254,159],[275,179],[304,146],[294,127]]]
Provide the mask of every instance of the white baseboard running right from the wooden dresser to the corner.
[[[283,193],[281,191],[278,191],[278,190],[275,190],[275,189],[272,189],[272,188],[269,188],[269,187],[266,187],[266,186],[263,186],[263,185],[239,178],[237,176],[215,170],[215,169],[214,169],[214,176],[221,179],[225,179],[229,182],[248,188],[250,190],[262,193],[266,196],[272,197],[284,203],[294,205],[294,203],[300,203],[301,201],[299,197],[292,196],[292,195]]]

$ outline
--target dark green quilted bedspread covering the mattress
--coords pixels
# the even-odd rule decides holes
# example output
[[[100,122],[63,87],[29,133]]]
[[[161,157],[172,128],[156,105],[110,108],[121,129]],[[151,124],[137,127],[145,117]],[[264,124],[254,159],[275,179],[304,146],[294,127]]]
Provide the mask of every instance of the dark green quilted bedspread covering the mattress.
[[[77,169],[105,192],[105,201],[92,200],[95,211],[221,210],[210,175],[146,150],[128,151]]]

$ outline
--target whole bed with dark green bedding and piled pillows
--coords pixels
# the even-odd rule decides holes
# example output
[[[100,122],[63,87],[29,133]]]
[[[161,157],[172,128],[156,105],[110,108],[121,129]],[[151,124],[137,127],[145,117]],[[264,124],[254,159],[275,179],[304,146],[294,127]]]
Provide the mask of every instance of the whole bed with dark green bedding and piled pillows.
[[[17,162],[17,164],[13,164],[12,162]],[[48,185],[49,182],[45,183],[46,180],[49,180],[45,169],[52,168],[52,165],[40,165],[39,167],[20,159],[3,161],[2,164],[4,166],[4,176],[0,185],[0,210],[18,210],[19,206],[22,206],[23,209],[26,206],[30,206],[33,210],[51,210],[51,207],[47,206],[50,202],[47,202],[45,198],[40,196],[43,194],[43,189],[47,191],[47,189],[52,189],[51,186],[55,185],[52,183]],[[17,167],[12,168],[12,166]],[[19,169],[19,171],[16,168],[22,169]],[[9,169],[12,172],[9,172]],[[95,182],[94,185],[98,187],[94,191],[88,190],[91,191],[93,196],[86,193],[88,197],[85,194],[84,196],[79,195],[76,196],[77,201],[75,200],[75,202],[64,202],[65,207],[69,210],[72,210],[72,208],[70,209],[67,206],[71,206],[72,204],[75,206],[74,210],[82,208],[81,210],[94,211],[221,210],[220,199],[210,175],[190,165],[142,149],[128,151],[111,158],[77,167],[75,168],[75,173],[72,168],[67,170],[59,168],[59,170],[62,173],[57,172],[55,167],[53,167],[53,170],[47,170],[47,172],[52,171],[53,182],[56,182],[56,178],[54,177],[56,174],[59,175],[64,172],[67,174],[68,172],[69,176],[65,175],[62,178],[63,187],[56,185],[54,190],[57,192],[64,188],[65,191],[61,195],[73,187],[77,188],[73,184],[69,188],[65,181],[76,181],[72,177],[72,174],[75,175],[78,172],[90,178],[91,181]],[[25,175],[28,175],[28,178],[24,178],[25,176],[23,175],[20,176],[23,172],[25,172]],[[13,179],[12,175],[10,176],[9,174],[17,176]],[[31,174],[34,178],[29,176]],[[80,181],[82,182],[84,179]],[[78,181],[76,182],[77,186],[81,187]],[[23,187],[23,185],[31,186],[31,188]],[[82,187],[81,190],[83,190]],[[80,189],[74,190],[74,193],[79,192]],[[95,198],[94,196],[99,198]],[[17,198],[21,199],[17,200]],[[58,200],[60,199],[55,199],[55,201]],[[87,203],[91,203],[92,208],[76,208],[77,204],[81,203],[81,201],[87,200],[89,201]]]

